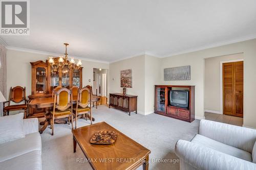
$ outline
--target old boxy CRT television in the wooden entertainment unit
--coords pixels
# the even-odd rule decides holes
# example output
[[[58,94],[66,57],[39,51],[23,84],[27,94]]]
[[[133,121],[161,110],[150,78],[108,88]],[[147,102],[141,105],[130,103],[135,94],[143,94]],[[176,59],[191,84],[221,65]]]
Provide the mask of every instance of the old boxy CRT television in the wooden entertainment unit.
[[[169,102],[171,106],[188,108],[189,91],[187,90],[170,90]]]

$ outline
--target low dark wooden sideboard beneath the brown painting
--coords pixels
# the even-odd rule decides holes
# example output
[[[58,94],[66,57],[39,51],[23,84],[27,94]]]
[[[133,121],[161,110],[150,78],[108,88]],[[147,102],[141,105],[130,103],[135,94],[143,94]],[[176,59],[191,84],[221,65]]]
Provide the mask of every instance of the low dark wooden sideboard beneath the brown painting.
[[[115,107],[116,109],[129,112],[135,111],[137,114],[137,95],[123,95],[121,93],[110,93],[109,108]]]

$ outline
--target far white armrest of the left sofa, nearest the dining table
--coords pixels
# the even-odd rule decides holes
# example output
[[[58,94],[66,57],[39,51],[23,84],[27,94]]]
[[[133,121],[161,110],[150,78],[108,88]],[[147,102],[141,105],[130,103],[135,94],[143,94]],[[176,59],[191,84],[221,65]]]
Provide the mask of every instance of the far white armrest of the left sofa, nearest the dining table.
[[[23,129],[25,135],[29,133],[35,133],[39,131],[38,118],[26,118],[23,119]]]

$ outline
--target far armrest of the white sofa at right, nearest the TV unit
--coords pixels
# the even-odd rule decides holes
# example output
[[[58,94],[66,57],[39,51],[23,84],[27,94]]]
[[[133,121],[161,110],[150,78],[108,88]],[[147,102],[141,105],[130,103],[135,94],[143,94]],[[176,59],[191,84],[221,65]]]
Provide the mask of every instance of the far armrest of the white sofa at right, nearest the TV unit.
[[[210,120],[200,120],[198,134],[250,153],[256,140],[255,129]]]

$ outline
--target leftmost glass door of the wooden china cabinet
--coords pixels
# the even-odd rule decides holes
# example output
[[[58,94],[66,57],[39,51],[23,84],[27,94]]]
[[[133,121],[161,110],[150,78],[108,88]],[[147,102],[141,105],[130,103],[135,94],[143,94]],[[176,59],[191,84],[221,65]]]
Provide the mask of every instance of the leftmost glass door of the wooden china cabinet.
[[[36,86],[35,91],[36,93],[46,93],[46,68],[44,67],[37,67],[36,68]]]

